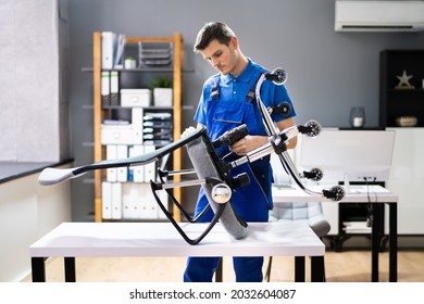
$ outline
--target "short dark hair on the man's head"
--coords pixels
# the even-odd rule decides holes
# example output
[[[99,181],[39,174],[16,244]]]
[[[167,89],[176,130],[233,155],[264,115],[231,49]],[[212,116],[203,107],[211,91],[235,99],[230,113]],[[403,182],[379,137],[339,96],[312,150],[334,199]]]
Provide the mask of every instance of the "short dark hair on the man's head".
[[[209,43],[216,39],[222,45],[229,45],[229,41],[236,35],[233,29],[222,22],[207,23],[198,33],[194,51],[199,52],[208,48]]]

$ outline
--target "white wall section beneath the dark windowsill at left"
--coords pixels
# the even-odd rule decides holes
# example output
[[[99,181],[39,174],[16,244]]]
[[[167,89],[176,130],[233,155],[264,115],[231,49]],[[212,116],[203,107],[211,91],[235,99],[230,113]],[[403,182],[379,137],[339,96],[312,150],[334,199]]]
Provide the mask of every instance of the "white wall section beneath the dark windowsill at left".
[[[70,182],[42,187],[38,174],[0,183],[0,282],[30,271],[29,245],[63,221],[71,221]]]

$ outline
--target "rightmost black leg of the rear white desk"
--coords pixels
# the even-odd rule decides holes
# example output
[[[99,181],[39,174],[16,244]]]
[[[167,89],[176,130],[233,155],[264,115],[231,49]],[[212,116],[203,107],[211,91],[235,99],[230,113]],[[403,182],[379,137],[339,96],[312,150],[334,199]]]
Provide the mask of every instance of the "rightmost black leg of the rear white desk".
[[[389,203],[389,281],[398,281],[398,204]]]

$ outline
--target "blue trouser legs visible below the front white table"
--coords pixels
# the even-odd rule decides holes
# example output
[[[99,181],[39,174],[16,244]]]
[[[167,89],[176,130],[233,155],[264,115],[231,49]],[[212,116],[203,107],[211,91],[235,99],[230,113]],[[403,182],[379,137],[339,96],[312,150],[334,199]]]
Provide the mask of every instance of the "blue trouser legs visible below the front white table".
[[[188,257],[185,282],[211,282],[221,257]],[[236,282],[262,282],[263,257],[233,257]]]

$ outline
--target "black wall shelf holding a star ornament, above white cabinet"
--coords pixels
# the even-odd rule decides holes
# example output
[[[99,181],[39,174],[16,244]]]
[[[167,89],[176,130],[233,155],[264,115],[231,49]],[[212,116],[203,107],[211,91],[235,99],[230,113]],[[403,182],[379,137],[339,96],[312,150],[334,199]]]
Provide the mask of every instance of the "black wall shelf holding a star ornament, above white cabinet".
[[[414,116],[424,126],[424,50],[384,50],[379,62],[379,125],[399,127],[396,118]],[[413,88],[398,88],[403,75]]]

